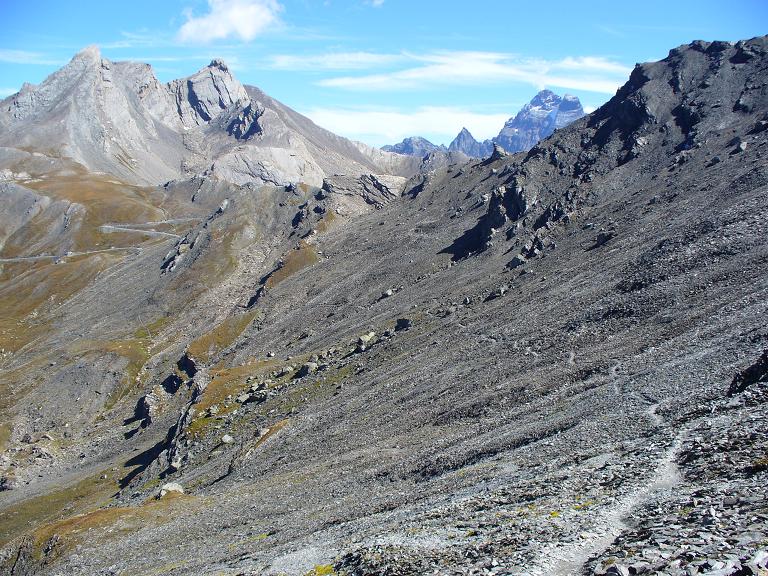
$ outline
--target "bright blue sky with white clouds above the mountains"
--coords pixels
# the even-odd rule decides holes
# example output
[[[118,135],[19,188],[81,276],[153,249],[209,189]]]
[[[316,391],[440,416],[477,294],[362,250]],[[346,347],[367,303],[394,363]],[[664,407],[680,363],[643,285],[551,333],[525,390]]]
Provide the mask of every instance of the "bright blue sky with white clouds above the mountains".
[[[542,88],[587,110],[636,62],[695,39],[768,32],[768,0],[3,0],[0,96],[81,48],[153,65],[160,80],[221,57],[245,84],[344,136],[479,139]]]

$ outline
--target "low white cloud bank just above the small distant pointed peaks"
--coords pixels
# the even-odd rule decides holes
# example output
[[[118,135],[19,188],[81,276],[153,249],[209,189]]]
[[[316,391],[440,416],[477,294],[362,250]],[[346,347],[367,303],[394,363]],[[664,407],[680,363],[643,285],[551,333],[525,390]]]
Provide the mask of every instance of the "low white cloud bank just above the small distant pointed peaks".
[[[394,144],[407,136],[423,136],[448,144],[462,128],[478,140],[499,133],[509,114],[481,114],[464,108],[427,106],[412,112],[392,109],[314,108],[303,111],[332,132],[377,146]]]

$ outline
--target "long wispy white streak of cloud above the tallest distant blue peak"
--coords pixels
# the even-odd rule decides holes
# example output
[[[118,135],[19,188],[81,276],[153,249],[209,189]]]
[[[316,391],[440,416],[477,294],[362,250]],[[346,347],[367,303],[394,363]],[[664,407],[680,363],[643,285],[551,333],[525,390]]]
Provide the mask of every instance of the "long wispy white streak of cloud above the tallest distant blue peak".
[[[536,88],[556,86],[613,94],[631,71],[597,56],[544,60],[497,52],[435,52],[410,55],[410,59],[412,66],[393,72],[328,78],[319,84],[346,90],[403,91],[518,82]]]

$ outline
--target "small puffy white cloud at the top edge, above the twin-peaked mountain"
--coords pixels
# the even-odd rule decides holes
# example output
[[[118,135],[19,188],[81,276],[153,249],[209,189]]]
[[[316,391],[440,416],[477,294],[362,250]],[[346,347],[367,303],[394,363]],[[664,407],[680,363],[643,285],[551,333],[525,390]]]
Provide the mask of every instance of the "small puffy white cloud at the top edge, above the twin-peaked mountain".
[[[278,24],[283,10],[277,0],[208,0],[208,7],[204,16],[187,14],[178,32],[180,41],[207,44],[234,37],[249,42]]]

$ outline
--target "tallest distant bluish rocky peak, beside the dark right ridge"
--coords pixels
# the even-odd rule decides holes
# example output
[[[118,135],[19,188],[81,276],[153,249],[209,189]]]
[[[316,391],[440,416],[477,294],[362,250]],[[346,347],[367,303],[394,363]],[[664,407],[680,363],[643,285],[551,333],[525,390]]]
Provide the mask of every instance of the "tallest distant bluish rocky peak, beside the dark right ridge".
[[[556,129],[564,128],[582,116],[584,109],[576,96],[560,97],[550,90],[542,90],[504,124],[493,141],[507,152],[530,150]]]

